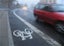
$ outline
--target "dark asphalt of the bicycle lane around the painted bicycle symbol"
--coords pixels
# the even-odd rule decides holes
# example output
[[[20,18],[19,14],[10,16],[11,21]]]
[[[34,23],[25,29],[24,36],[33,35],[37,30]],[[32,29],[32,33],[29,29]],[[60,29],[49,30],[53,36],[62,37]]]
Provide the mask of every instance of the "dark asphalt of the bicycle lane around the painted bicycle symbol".
[[[33,39],[27,38],[26,40],[23,41],[22,38],[15,37],[13,35],[13,32],[15,30],[24,31],[25,28],[29,27],[26,26],[23,22],[21,22],[16,16],[14,16],[12,12],[9,15],[9,20],[15,46],[51,46],[35,32],[33,32],[32,34]]]

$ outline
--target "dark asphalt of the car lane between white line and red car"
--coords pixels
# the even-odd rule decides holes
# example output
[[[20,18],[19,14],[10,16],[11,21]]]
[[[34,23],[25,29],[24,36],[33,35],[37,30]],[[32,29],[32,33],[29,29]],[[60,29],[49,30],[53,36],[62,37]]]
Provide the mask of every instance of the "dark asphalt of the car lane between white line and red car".
[[[60,44],[62,44],[62,46],[64,46],[64,34],[57,32],[55,28],[48,23],[36,22],[32,11],[30,10],[24,11],[20,9],[16,11],[16,14],[22,17],[27,22],[34,25],[35,27],[37,27],[38,29],[40,29],[42,32],[44,32],[45,34],[47,34],[48,36],[50,36]]]

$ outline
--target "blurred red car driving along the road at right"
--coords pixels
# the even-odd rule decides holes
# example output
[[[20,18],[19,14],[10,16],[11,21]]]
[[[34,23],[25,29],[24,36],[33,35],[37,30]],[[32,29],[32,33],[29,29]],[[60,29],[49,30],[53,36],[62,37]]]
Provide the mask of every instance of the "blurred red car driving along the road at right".
[[[64,33],[64,5],[38,4],[34,8],[34,16],[37,21],[47,22],[55,26],[57,31]]]

